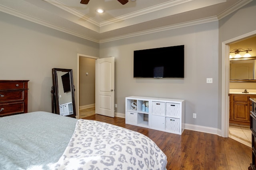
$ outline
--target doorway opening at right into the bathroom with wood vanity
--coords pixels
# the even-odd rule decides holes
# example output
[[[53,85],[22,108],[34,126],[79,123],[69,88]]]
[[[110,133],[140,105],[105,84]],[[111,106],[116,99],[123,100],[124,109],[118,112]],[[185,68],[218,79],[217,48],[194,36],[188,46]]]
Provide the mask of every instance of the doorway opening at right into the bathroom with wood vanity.
[[[255,79],[255,62],[254,56],[256,56],[255,47],[256,47],[256,36],[252,36],[250,38],[246,38],[243,40],[240,40],[238,42],[229,44],[230,51],[233,53],[230,53],[231,60],[230,60],[230,79],[239,79],[239,82],[236,81],[230,81],[230,88],[229,91],[233,92],[235,94],[236,91],[238,92],[238,95],[242,94],[245,89],[248,90],[248,95],[251,95],[252,92],[254,92],[254,89],[256,87],[255,82],[242,82],[244,79]],[[248,52],[247,55],[251,54],[251,57],[248,57],[247,59],[251,60],[243,60],[244,55],[246,54],[246,51],[244,52],[244,49],[250,49],[253,50]],[[236,52],[234,50],[239,49],[241,52],[237,53],[240,55],[240,58],[236,58]],[[253,80],[252,80],[253,81]],[[230,97],[234,100],[234,96],[230,95]],[[244,99],[247,98],[247,96],[243,96]],[[229,122],[229,137],[245,144],[246,146],[252,147],[252,135],[250,130],[250,124],[249,124],[249,114],[251,111],[251,108],[249,109],[248,104],[245,104],[244,102],[241,102],[238,100],[236,96],[236,102],[231,99],[231,113],[230,115],[230,122]],[[247,99],[248,100],[248,99]],[[244,105],[243,105],[244,104]],[[244,106],[244,109],[242,107]],[[238,109],[238,108],[240,109]],[[238,111],[239,110],[239,111]],[[244,116],[244,117],[243,117]]]

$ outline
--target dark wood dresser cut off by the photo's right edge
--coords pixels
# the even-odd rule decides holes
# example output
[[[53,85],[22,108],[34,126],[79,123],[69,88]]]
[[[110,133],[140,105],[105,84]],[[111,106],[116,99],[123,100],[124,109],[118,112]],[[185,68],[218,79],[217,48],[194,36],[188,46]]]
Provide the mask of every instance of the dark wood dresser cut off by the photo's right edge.
[[[250,129],[252,130],[252,163],[248,170],[256,170],[256,98],[250,98],[252,110],[250,111]]]

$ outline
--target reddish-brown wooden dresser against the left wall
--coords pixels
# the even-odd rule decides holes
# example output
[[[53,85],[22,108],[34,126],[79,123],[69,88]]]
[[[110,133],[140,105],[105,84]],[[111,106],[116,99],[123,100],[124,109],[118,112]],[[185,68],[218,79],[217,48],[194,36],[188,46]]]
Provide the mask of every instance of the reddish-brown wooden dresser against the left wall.
[[[28,81],[0,80],[0,117],[28,112]]]

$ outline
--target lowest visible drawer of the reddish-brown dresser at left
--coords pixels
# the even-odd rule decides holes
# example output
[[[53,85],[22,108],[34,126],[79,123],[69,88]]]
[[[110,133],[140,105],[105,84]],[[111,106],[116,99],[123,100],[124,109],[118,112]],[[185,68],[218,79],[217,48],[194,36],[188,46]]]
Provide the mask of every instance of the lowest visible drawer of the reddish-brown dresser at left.
[[[16,114],[24,113],[24,102],[15,102],[8,104],[0,104],[0,116],[5,116],[6,114]]]

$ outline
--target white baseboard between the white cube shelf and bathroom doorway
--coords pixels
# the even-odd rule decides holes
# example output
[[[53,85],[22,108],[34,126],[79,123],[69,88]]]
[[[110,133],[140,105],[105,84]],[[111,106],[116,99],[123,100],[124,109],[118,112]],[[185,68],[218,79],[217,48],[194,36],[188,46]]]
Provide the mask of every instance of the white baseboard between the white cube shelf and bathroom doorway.
[[[204,133],[210,133],[210,134],[216,134],[218,136],[221,136],[221,130],[217,129],[217,128],[198,126],[198,125],[194,125],[194,124],[185,124],[185,129],[194,130],[194,131],[198,131],[198,132],[204,132]]]

